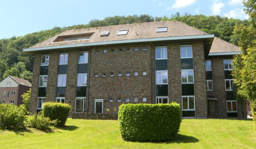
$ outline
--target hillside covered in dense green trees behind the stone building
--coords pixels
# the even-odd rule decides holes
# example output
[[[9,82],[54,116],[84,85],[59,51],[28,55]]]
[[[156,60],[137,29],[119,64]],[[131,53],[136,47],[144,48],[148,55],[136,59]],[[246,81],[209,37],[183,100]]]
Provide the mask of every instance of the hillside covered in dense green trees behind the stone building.
[[[248,25],[247,20],[228,19],[220,16],[205,15],[175,15],[153,17],[150,15],[133,16],[113,16],[106,17],[103,20],[93,19],[89,24],[74,25],[69,27],[54,27],[53,29],[30,33],[25,36],[0,39],[0,80],[8,75],[17,76],[29,80],[32,79],[33,56],[22,52],[22,49],[28,48],[34,44],[42,42],[54,35],[69,29],[81,29],[87,27],[100,27],[108,25],[131,24],[141,22],[154,22],[165,20],[178,20],[185,24],[201,29],[206,33],[237,45],[239,36],[233,33],[234,27],[239,24]]]

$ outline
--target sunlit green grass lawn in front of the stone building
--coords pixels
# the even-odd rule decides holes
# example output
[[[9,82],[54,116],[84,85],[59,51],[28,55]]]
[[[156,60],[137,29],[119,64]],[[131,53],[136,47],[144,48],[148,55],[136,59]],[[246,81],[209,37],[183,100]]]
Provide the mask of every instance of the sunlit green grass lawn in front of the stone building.
[[[251,120],[185,119],[172,142],[126,142],[116,120],[72,120],[67,126],[45,133],[1,131],[0,148],[256,148],[256,131]]]

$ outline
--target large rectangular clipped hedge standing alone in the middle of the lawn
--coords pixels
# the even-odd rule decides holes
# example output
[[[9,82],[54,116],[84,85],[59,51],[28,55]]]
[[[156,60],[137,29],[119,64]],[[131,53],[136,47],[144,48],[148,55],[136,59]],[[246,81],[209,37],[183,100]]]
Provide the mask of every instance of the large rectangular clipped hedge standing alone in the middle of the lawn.
[[[118,123],[122,138],[128,141],[169,141],[180,129],[180,105],[122,104]]]

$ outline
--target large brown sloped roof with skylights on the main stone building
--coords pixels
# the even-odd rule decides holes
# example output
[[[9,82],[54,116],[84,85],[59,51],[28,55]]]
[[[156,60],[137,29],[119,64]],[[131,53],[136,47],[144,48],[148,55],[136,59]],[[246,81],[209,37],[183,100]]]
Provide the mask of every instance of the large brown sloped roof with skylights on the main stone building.
[[[157,27],[168,27],[167,32],[157,33]],[[127,35],[117,35],[118,31],[129,30]],[[108,36],[100,36],[103,31],[109,31]],[[58,36],[79,35],[93,33],[89,40],[72,40],[63,42],[53,42]],[[161,21],[161,22],[147,22],[137,24],[112,25],[103,27],[93,27],[86,29],[68,30],[59,35],[56,35],[39,44],[35,44],[30,48],[50,47],[58,45],[70,44],[84,44],[93,42],[143,39],[143,38],[158,38],[158,37],[172,37],[172,36],[192,36],[192,35],[209,35],[204,31],[196,29],[195,27],[183,24],[178,21]]]

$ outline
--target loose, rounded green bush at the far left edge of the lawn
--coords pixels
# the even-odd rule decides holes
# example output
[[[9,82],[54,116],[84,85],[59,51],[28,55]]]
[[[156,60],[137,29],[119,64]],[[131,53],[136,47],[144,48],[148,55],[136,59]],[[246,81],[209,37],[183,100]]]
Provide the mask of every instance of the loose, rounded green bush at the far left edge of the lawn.
[[[24,109],[12,104],[0,105],[1,129],[24,129],[26,120]]]

